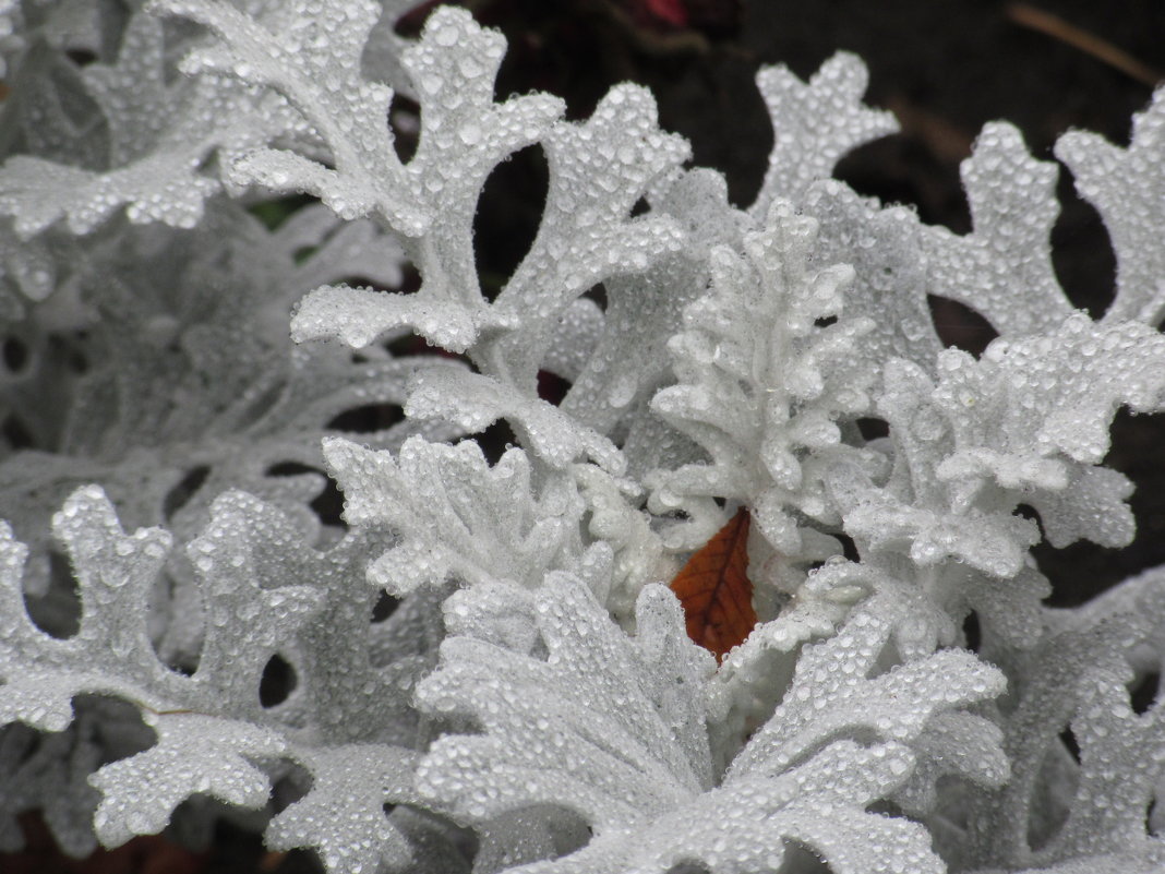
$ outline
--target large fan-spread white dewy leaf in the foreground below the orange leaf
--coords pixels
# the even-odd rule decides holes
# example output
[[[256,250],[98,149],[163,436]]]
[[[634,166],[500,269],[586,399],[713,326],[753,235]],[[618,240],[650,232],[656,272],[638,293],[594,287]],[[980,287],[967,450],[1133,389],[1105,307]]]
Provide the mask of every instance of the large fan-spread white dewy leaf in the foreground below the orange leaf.
[[[908,781],[916,761],[908,745],[935,716],[1002,691],[1002,676],[970,654],[942,653],[869,678],[890,623],[862,613],[807,651],[777,712],[713,787],[711,658],[686,639],[671,593],[643,590],[631,639],[587,585],[552,573],[532,595],[542,651],[475,630],[478,602],[502,594],[464,592],[449,614],[453,636],[418,703],[433,716],[468,717],[481,733],[436,741],[417,780],[423,795],[469,823],[558,805],[589,824],[594,837],[581,850],[515,871],[663,874],[693,862],[743,874],[779,867],[785,841],[812,847],[839,872],[942,871],[925,830],[866,806]],[[511,598],[529,615],[530,595]],[[998,762],[994,727],[963,725]],[[940,734],[930,742],[941,749],[937,759],[956,753]],[[1005,767],[976,776],[995,785]]]

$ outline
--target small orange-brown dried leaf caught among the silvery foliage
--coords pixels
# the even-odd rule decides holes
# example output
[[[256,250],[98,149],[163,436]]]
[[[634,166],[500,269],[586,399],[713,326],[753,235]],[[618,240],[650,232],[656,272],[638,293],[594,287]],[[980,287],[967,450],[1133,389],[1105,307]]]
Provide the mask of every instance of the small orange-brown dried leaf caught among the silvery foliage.
[[[756,625],[748,578],[748,510],[701,547],[671,582],[687,620],[687,636],[716,655],[744,640]]]

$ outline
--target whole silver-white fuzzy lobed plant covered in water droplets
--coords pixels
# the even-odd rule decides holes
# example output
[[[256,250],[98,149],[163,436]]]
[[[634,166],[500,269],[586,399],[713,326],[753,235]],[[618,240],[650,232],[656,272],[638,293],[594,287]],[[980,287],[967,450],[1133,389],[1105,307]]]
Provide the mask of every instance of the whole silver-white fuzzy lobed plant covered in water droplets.
[[[497,100],[502,37],[405,41],[408,6],[0,0],[0,846],[41,809],[77,855],[232,816],[329,874],[1160,872],[1165,706],[1130,689],[1165,573],[1052,609],[1031,548],[1134,535],[1103,463],[1165,407],[1165,92],[1128,148],[1055,149],[1117,256],[1093,320],[1009,125],[953,234],[829,178],[895,131],[857,58],[762,70],[741,210],[645,90]],[[531,145],[489,298],[476,202]],[[998,339],[944,348],[929,296]],[[663,584],[741,507],[760,621],[718,665]]]

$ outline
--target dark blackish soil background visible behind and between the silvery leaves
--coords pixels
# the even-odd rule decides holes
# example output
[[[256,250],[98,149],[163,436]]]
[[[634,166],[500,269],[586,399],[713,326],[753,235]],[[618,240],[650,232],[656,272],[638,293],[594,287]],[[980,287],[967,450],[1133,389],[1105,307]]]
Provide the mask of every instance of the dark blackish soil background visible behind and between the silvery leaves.
[[[696,163],[728,178],[737,204],[750,203],[764,172],[771,129],[753,84],[763,64],[783,63],[807,77],[838,49],[870,70],[868,101],[894,111],[903,132],[847,157],[841,178],[863,193],[913,204],[930,223],[969,230],[959,162],[979,128],[1005,119],[1037,157],[1052,160],[1062,132],[1082,127],[1125,143],[1134,112],[1165,70],[1165,3],[1158,0],[467,0],[510,43],[499,93],[532,89],[563,96],[574,118],[587,115],[622,80],[648,85],[662,125],[687,136]],[[411,14],[417,30],[431,8]],[[1040,15],[1043,13],[1043,15]],[[1054,16],[1048,19],[1047,15]],[[1075,28],[1066,30],[1064,26]],[[1082,38],[1081,38],[1082,36]],[[1123,72],[1102,59],[1115,47],[1144,70]],[[1083,47],[1074,44],[1083,43]],[[1055,266],[1078,305],[1103,312],[1114,260],[1095,212],[1073,193],[1066,171]],[[483,276],[500,283],[534,237],[545,193],[545,164],[528,149],[501,165],[478,217]],[[935,303],[945,339],[979,352],[990,329],[959,308]],[[1121,414],[1109,463],[1137,484],[1136,542],[1123,550],[1078,544],[1037,550],[1053,604],[1069,605],[1129,573],[1165,563],[1163,417]],[[33,819],[28,852],[0,859],[12,874],[294,874],[318,871],[309,853],[267,854],[257,838],[223,826],[214,845],[184,854],[141,839],[84,861],[62,859]],[[135,846],[136,845],[136,846]]]

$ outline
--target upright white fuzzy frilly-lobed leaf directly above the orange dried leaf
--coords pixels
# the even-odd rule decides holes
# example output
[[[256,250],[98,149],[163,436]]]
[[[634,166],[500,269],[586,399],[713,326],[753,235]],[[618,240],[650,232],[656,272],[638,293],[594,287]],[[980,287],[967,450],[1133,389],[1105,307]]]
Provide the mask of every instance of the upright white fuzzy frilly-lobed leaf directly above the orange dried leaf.
[[[816,221],[779,202],[767,228],[746,235],[744,258],[713,252],[713,290],[685,310],[685,331],[669,343],[679,385],[657,393],[652,408],[711,457],[648,478],[650,509],[696,516],[675,527],[669,545],[708,540],[715,528],[705,529],[693,505],[713,498],[751,506],[758,529],[786,554],[800,548],[793,512],[833,516],[817,471],[859,458],[834,423],[869,403],[874,374],[853,352],[871,324],[814,324],[841,311],[853,280],[846,266],[812,266],[816,237]]]

